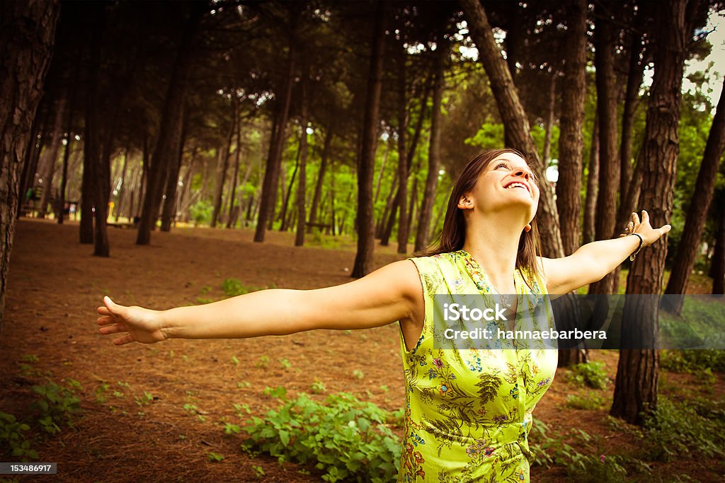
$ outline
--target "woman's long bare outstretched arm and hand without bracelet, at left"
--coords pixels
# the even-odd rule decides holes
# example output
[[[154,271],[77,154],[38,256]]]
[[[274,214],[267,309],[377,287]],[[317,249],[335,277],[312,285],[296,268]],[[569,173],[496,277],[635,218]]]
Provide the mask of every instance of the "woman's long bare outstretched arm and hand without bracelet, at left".
[[[116,345],[169,338],[210,339],[286,335],[310,329],[367,329],[422,319],[423,290],[410,261],[397,261],[367,276],[316,290],[271,289],[201,306],[165,311],[121,306],[104,297],[101,334],[124,334]]]

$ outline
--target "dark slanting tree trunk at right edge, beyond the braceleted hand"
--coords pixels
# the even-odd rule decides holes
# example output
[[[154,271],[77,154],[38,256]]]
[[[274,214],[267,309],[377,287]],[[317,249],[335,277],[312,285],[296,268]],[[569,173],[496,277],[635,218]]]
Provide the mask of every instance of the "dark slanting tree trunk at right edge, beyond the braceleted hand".
[[[692,200],[689,201],[687,218],[685,218],[684,230],[682,230],[682,238],[680,238],[680,243],[677,245],[677,253],[665,293],[684,294],[687,289],[689,274],[692,271],[692,266],[695,265],[695,257],[697,256],[698,248],[700,248],[705,220],[708,216],[710,204],[713,201],[715,180],[718,176],[718,164],[720,164],[724,148],[725,96],[721,93],[720,101],[718,101],[718,109],[713,119],[713,125],[710,127],[708,143],[705,145],[705,153],[703,154],[703,161],[700,164],[700,172],[697,173],[695,192],[692,193]],[[720,209],[723,209],[723,207],[721,206]],[[671,297],[668,300],[675,302],[673,305],[666,307],[668,311],[679,315],[682,311],[684,296]]]

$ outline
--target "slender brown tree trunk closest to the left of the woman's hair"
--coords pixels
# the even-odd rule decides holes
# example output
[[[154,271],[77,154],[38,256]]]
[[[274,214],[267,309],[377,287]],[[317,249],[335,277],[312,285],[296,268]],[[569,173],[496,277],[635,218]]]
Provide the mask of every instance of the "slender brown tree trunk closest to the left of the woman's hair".
[[[428,176],[426,187],[423,188],[423,200],[421,200],[421,211],[418,216],[418,232],[415,233],[415,251],[422,251],[428,246],[428,232],[431,225],[431,210],[436,200],[436,188],[438,186],[438,167],[440,164],[441,152],[441,104],[443,101],[443,76],[445,74],[445,58],[448,54],[448,46],[445,41],[438,42],[436,51],[436,77],[433,88],[433,107],[431,109],[431,139],[428,144]]]

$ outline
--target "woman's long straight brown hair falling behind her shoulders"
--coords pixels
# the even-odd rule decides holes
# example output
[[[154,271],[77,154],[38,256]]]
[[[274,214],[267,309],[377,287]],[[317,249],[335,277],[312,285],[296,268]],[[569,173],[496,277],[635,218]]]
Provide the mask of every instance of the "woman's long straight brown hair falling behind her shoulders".
[[[448,198],[446,217],[443,221],[443,230],[437,239],[438,243],[434,248],[429,248],[420,256],[433,256],[439,253],[458,251],[463,248],[465,242],[465,218],[463,217],[463,210],[458,208],[458,201],[465,193],[471,193],[473,187],[476,186],[479,175],[484,172],[484,169],[488,167],[491,161],[505,153],[517,154],[523,158],[523,154],[512,148],[489,149],[471,159],[465,165],[453,185],[450,198]],[[539,263],[537,256],[539,253],[541,253],[541,238],[539,237],[537,218],[534,216],[534,219],[531,220],[531,230],[521,232],[516,255],[516,268],[526,269],[529,274],[538,276]]]

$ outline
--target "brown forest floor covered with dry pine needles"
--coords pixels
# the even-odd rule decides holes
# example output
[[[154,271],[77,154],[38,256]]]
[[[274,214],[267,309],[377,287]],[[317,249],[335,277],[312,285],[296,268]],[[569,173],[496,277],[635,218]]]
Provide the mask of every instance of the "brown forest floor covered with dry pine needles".
[[[252,243],[252,230],[176,228],[154,232],[152,244],[135,245],[136,231],[109,228],[111,257],[91,256],[78,243],[78,224],[20,219],[7,285],[0,338],[0,411],[23,419],[31,411],[33,385],[44,379],[80,382],[82,413],[74,427],[33,442],[39,461],[57,462],[55,476],[20,476],[52,482],[315,482],[319,474],[276,458],[252,458],[241,437],[223,433],[221,420],[240,422],[234,403],[262,416],[278,402],[265,387],[289,394],[346,391],[387,411],[404,400],[399,333],[395,324],[352,332],[315,331],[263,340],[169,340],[157,345],[112,345],[99,335],[96,307],[103,295],[150,308],[218,300],[221,284],[236,278],[247,287],[310,289],[348,282],[355,259],[351,240],[318,240],[327,248],[293,247],[291,233],[268,232]],[[313,245],[310,237],[310,245]],[[334,248],[329,248],[329,247]],[[402,259],[394,248],[376,248],[376,266]],[[700,286],[701,285],[701,286]],[[705,285],[692,291],[704,293]],[[575,427],[597,437],[597,448],[579,453],[626,455],[638,440],[608,418],[617,353],[594,351],[610,379],[607,390],[579,387],[559,369],[534,411],[550,432],[575,446]],[[724,397],[724,374],[714,374],[711,397]],[[660,394],[683,398],[703,389],[691,374],[660,374]],[[321,385],[320,385],[321,382]],[[684,389],[687,392],[683,392]],[[714,388],[714,389],[713,389]],[[568,395],[604,400],[592,410],[565,406]],[[202,421],[203,419],[203,421]],[[536,424],[536,422],[534,423]],[[33,432],[33,430],[31,430]],[[397,429],[400,433],[400,429]],[[571,435],[571,438],[568,437]],[[0,453],[4,448],[0,448]],[[210,461],[210,453],[223,461]],[[7,457],[5,458],[7,460]],[[690,458],[652,463],[647,481],[689,475],[718,480],[721,461]],[[560,481],[560,466],[531,469],[533,481]]]

